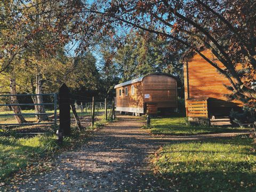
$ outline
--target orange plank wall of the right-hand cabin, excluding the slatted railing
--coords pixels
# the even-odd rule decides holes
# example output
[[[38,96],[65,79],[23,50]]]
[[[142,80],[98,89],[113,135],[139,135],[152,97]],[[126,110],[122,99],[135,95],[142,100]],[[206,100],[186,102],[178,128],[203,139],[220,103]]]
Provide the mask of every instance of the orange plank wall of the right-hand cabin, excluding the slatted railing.
[[[207,58],[214,57],[209,50],[202,52]],[[218,61],[219,67],[224,68]],[[224,85],[230,85],[228,79],[219,74],[217,69],[210,65],[198,54],[191,57],[184,65],[185,100],[188,98],[209,98],[210,107],[233,107],[241,105],[239,101],[228,101],[225,94],[230,91]],[[185,103],[187,107],[187,102]]]

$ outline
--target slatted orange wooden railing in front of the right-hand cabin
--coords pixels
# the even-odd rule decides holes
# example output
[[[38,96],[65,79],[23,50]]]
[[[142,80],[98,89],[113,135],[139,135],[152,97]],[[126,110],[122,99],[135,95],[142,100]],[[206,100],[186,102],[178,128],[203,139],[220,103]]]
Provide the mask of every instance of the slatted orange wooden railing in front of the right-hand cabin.
[[[208,117],[208,98],[187,99],[188,117]]]

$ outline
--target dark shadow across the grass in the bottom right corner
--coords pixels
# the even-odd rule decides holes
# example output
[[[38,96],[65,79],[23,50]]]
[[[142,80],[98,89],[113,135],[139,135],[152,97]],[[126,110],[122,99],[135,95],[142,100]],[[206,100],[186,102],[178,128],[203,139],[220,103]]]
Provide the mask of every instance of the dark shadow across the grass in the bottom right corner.
[[[163,185],[179,191],[255,191],[255,173],[186,172],[164,174]],[[175,190],[174,190],[175,191]]]

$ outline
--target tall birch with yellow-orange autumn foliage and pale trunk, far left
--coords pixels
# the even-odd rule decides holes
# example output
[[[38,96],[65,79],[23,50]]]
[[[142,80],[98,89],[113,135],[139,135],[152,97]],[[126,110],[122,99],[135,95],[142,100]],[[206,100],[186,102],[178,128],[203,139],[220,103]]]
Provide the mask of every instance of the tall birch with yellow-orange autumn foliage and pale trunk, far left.
[[[78,3],[79,4],[79,3]],[[65,46],[72,38],[71,30],[77,2],[69,1],[2,1],[0,3],[0,73],[10,71],[15,58],[33,58],[36,61],[50,57]],[[68,14],[68,10],[73,14]],[[65,14],[62,14],[63,12]],[[69,28],[70,27],[70,28]],[[69,30],[69,31],[66,31]],[[28,66],[27,66],[28,67]],[[42,71],[36,65],[35,93],[43,93]],[[14,79],[13,79],[14,80]],[[13,83],[15,81],[11,81]],[[33,85],[33,81],[31,82]],[[16,86],[11,85],[13,89]],[[33,87],[34,90],[34,87]],[[16,91],[15,91],[16,92]],[[18,100],[15,100],[18,102]],[[42,95],[33,97],[35,103],[42,104]],[[20,110],[20,108],[19,108]],[[44,106],[36,106],[36,113],[45,113]],[[21,111],[20,111],[21,112]],[[47,120],[46,115],[38,115],[39,121]]]

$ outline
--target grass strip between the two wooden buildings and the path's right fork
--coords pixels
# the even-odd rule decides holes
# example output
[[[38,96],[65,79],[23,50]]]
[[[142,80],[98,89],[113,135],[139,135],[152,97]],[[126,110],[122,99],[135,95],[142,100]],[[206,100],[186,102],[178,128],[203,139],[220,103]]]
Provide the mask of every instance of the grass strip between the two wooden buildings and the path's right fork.
[[[164,135],[195,135],[223,132],[242,132],[248,131],[247,128],[219,127],[219,126],[196,126],[190,125],[186,121],[186,117],[168,117],[168,118],[152,118],[151,127],[152,134]]]

